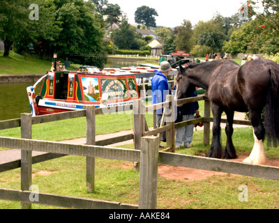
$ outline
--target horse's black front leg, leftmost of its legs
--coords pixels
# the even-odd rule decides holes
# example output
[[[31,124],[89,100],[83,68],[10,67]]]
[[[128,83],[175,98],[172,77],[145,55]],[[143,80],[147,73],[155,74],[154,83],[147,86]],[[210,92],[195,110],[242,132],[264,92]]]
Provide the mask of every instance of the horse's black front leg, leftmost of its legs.
[[[222,148],[220,144],[220,122],[223,110],[218,105],[215,105],[213,103],[211,109],[213,113],[212,142],[211,151],[209,151],[209,153],[206,154],[206,157],[220,159],[222,157]]]

